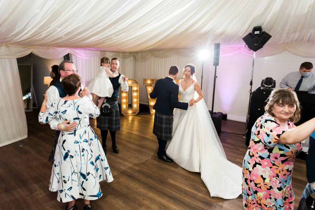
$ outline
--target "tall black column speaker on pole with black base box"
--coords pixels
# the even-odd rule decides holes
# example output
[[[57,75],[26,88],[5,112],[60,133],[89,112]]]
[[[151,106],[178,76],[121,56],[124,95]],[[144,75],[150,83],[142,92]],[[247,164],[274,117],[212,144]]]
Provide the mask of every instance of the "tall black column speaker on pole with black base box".
[[[213,81],[213,94],[212,94],[212,106],[211,111],[209,111],[211,119],[213,121],[213,124],[215,125],[215,129],[218,134],[221,133],[221,127],[222,127],[222,112],[214,112],[213,106],[215,102],[215,81],[216,81],[216,67],[219,65],[219,58],[220,58],[220,43],[214,44],[214,51],[213,51],[213,65],[215,66],[215,76]]]

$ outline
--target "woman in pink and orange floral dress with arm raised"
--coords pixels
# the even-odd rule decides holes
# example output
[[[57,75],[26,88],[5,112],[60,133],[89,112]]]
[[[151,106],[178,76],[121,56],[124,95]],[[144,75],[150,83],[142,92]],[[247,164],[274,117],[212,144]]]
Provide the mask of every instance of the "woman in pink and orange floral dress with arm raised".
[[[295,127],[301,110],[292,90],[273,90],[266,101],[243,160],[244,208],[294,209],[293,164],[300,142],[315,130],[315,118]]]

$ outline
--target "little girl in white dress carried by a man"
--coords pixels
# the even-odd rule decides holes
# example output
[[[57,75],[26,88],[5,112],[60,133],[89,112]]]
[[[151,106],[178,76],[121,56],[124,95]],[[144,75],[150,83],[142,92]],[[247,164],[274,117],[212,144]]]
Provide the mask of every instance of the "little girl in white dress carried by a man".
[[[100,60],[100,73],[99,76],[95,77],[88,85],[88,89],[91,93],[94,93],[94,103],[100,109],[103,104],[105,97],[111,97],[114,89],[112,82],[109,77],[117,77],[118,72],[112,73],[109,69],[111,60],[109,58],[101,58]]]

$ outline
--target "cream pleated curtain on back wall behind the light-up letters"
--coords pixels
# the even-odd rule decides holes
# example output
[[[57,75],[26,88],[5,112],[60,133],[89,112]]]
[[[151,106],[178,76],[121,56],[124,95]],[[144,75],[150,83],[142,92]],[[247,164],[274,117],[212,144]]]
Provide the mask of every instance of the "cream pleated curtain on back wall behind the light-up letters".
[[[178,53],[184,56],[175,54],[176,51],[166,52],[165,54],[158,52],[155,53],[112,53],[102,52],[90,59],[83,59],[74,54],[70,54],[71,60],[75,63],[78,75],[82,78],[84,86],[87,86],[94,77],[99,73],[100,58],[108,57],[110,59],[117,57],[120,60],[119,73],[128,76],[129,79],[135,79],[139,82],[139,102],[141,104],[148,104],[146,95],[146,88],[143,84],[143,78],[163,78],[168,75],[168,70],[172,65],[178,65],[180,72],[188,63],[194,63],[197,66],[196,77],[201,77],[201,63],[202,61],[198,56],[185,56],[188,53]],[[101,57],[99,57],[99,55]],[[156,57],[159,56],[159,57]],[[140,59],[140,60],[139,60]],[[181,73],[178,78],[182,78]],[[199,81],[200,82],[200,81]]]

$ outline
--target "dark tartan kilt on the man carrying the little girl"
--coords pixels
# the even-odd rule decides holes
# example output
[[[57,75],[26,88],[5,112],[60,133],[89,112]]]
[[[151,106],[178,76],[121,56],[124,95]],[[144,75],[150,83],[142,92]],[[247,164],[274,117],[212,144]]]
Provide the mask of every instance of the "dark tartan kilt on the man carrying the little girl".
[[[96,117],[96,128],[100,130],[110,130],[110,131],[119,131],[120,130],[120,120],[119,120],[119,107],[118,102],[106,102],[111,105],[112,112],[108,116]]]

